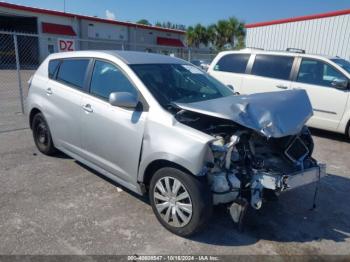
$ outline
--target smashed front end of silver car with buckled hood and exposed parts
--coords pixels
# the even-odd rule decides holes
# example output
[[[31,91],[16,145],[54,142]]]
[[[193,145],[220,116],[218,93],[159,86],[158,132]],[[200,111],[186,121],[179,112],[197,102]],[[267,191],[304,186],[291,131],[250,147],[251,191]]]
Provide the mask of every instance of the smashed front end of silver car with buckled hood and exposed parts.
[[[265,196],[317,182],[326,174],[325,165],[312,158],[313,140],[304,126],[312,115],[307,96],[305,99],[300,92],[289,97],[286,93],[270,93],[268,99],[269,103],[275,102],[268,110],[259,107],[264,104],[259,94],[235,97],[226,105],[211,101],[217,102],[214,113],[206,113],[208,105],[203,103],[178,105],[181,109],[176,112],[179,122],[215,138],[209,145],[210,157],[203,172],[208,177],[213,203],[233,203],[230,213],[235,222],[240,221],[247,203],[260,209]],[[254,101],[259,101],[258,105]],[[218,112],[220,107],[224,110]],[[282,119],[281,112],[287,112],[286,107],[289,115]],[[230,115],[230,109],[237,108],[242,111]]]

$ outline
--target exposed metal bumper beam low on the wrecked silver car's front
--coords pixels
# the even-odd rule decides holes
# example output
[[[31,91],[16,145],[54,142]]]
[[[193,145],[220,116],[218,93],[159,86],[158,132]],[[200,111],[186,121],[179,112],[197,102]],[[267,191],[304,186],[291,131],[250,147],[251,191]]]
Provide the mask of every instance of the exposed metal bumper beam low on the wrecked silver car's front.
[[[261,207],[262,191],[264,188],[283,192],[318,182],[326,174],[325,164],[318,164],[315,167],[287,175],[272,175],[270,173],[257,172],[253,176],[251,183],[251,205],[255,209]]]

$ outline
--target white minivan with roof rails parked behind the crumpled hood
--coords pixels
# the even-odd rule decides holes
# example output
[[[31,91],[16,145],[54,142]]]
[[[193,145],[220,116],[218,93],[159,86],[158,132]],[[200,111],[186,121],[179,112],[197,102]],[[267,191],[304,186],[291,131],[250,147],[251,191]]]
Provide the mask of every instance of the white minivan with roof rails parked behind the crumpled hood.
[[[314,115],[307,125],[350,137],[350,62],[303,50],[221,52],[208,73],[241,94],[306,90]]]

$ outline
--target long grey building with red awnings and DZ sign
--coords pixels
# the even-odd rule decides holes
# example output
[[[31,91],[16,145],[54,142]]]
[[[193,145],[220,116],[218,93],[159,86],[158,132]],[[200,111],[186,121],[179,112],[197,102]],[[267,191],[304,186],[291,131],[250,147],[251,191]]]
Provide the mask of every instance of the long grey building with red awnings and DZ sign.
[[[12,61],[12,35],[18,35],[20,57],[27,63],[39,63],[49,53],[67,50],[125,49],[148,52],[181,53],[185,32],[136,23],[65,13],[0,2],[0,52]],[[29,49],[29,50],[28,50]],[[26,55],[21,55],[26,53]],[[30,57],[28,57],[30,56]]]

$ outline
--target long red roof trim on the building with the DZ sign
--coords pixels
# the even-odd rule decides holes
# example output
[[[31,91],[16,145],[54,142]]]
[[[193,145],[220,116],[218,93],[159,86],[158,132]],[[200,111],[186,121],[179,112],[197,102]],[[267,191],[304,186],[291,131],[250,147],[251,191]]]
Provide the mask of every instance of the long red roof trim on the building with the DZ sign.
[[[177,34],[185,34],[186,33],[185,31],[177,30],[177,29],[163,28],[163,27],[158,27],[158,26],[140,25],[140,24],[130,23],[130,22],[121,22],[121,21],[116,21],[116,20],[109,20],[109,19],[104,19],[104,18],[86,16],[86,15],[65,13],[65,12],[55,11],[55,10],[48,10],[48,9],[41,9],[41,8],[36,8],[36,7],[9,4],[9,3],[5,3],[5,2],[0,2],[0,7],[9,8],[9,9],[13,9],[13,10],[39,13],[39,14],[55,15],[55,16],[61,16],[61,17],[70,17],[70,18],[76,17],[79,19],[85,19],[85,20],[94,21],[94,22],[101,22],[101,23],[114,24],[114,25],[124,25],[124,26],[128,26],[128,27],[142,28],[142,29],[151,29],[151,30],[157,30],[157,31],[168,32],[168,33],[177,33]]]

